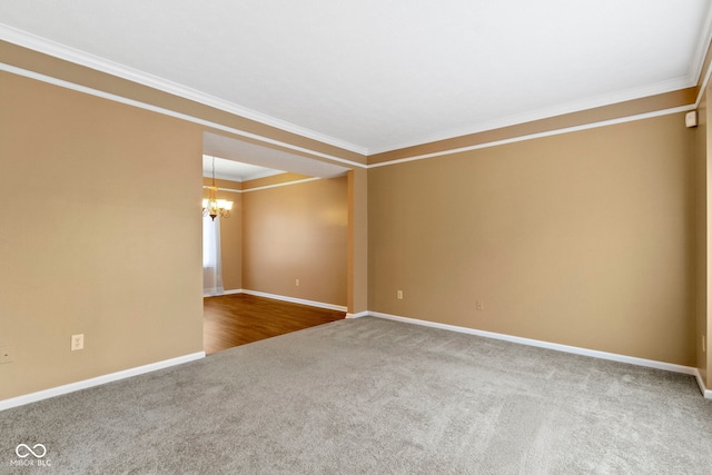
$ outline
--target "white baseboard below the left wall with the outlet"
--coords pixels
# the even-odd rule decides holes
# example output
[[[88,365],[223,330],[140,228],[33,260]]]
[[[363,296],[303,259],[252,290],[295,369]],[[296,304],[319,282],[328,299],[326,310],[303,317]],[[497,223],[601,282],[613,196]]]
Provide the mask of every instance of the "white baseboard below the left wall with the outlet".
[[[77,383],[39,390],[37,393],[30,393],[23,396],[12,397],[10,399],[0,400],[0,410],[22,406],[24,404],[34,403],[42,399],[48,399],[50,397],[59,396],[62,394],[73,393],[75,390],[79,389],[87,389],[89,387],[129,378],[131,376],[138,376],[145,373],[156,372],[158,369],[181,365],[184,363],[192,362],[200,358],[205,358],[205,352],[192,353],[190,355],[179,356],[177,358],[165,359],[162,362],[151,363],[148,365],[138,366],[136,368],[123,369],[121,372],[110,373],[108,375],[97,376],[95,378],[83,379]]]

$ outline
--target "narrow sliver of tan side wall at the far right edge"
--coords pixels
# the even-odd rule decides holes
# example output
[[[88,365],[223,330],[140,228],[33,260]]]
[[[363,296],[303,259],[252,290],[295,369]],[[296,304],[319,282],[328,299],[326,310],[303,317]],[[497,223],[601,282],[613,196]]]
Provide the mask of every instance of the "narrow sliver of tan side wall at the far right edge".
[[[708,99],[706,93],[702,96],[700,106],[698,108],[698,121],[699,126],[693,130],[694,135],[694,160],[695,160],[695,211],[696,211],[696,331],[695,331],[695,350],[698,369],[702,376],[702,380],[705,386],[709,387],[708,379],[708,362],[706,352],[702,347],[702,336],[706,338],[708,333],[708,274],[710,273],[710,265],[708,264],[708,174],[712,171],[708,166]],[[706,343],[706,342],[705,342]]]

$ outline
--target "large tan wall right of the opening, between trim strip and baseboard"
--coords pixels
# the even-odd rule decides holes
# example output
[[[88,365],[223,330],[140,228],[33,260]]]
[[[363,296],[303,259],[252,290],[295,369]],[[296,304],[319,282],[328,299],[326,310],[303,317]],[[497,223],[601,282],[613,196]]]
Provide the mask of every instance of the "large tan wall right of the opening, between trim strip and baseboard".
[[[370,169],[369,310],[694,366],[691,133],[678,113]]]

